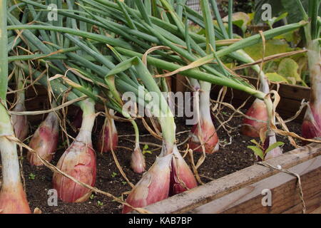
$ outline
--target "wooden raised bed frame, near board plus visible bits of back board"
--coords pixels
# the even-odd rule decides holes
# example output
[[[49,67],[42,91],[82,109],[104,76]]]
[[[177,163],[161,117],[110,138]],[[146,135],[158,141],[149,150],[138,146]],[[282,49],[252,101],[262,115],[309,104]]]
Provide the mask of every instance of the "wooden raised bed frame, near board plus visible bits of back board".
[[[248,79],[255,85],[255,79]],[[176,83],[173,88],[181,91],[183,87]],[[276,84],[272,89],[276,89]],[[213,98],[217,97],[219,90],[219,86],[213,88]],[[281,101],[277,111],[282,118],[290,118],[300,108],[302,99],[308,100],[310,88],[281,84],[279,94]],[[247,94],[228,89],[225,101],[232,101],[238,107],[246,98]],[[245,108],[253,100],[251,98]],[[296,120],[302,121],[304,113],[305,110]],[[300,175],[306,212],[321,213],[321,144],[311,143],[266,163]],[[263,206],[263,190],[272,193],[271,206]],[[259,164],[146,207],[150,212],[165,214],[302,213],[302,208],[297,177]]]

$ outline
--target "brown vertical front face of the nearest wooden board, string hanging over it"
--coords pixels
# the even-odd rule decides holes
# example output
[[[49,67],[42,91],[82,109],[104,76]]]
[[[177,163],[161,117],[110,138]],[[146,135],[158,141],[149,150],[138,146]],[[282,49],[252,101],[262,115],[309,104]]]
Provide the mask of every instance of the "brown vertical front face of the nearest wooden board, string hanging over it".
[[[307,212],[321,203],[321,156],[307,160],[289,169],[300,175]],[[272,205],[263,207],[263,190],[272,193]],[[317,192],[317,196],[315,196]],[[312,200],[311,200],[312,199]],[[297,177],[284,172],[267,177],[224,197],[191,210],[194,214],[251,214],[251,213],[301,213],[302,203],[297,188]]]

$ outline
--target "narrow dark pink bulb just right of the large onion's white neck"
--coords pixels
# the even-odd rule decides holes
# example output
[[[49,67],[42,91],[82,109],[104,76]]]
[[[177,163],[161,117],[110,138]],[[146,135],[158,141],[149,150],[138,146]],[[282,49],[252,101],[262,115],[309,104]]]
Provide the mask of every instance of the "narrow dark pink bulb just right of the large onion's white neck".
[[[109,130],[108,124],[105,126],[105,130],[101,129],[98,139],[98,151],[109,152],[111,149],[116,150],[118,145],[118,133],[115,124],[112,123],[112,128]]]

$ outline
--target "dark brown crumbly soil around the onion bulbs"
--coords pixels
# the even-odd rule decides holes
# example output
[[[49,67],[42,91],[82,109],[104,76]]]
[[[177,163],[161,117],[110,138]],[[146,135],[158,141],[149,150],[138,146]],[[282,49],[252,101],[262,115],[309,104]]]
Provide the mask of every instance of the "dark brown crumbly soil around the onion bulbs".
[[[244,111],[244,110],[243,110]],[[229,110],[225,110],[222,112],[223,118],[225,120],[228,119],[230,112]],[[222,117],[221,117],[222,118]],[[98,120],[99,122],[100,120]],[[253,165],[256,161],[255,155],[253,152],[247,148],[248,145],[252,143],[250,140],[252,138],[245,137],[240,135],[239,127],[241,124],[242,118],[233,118],[228,125],[235,128],[233,133],[228,133],[223,129],[218,129],[218,121],[215,121],[215,127],[218,129],[218,135],[220,138],[220,143],[222,144],[220,150],[215,152],[212,155],[207,155],[205,162],[198,169],[198,173],[203,182],[210,182],[211,180],[215,180],[217,178],[228,175],[232,172],[242,170],[245,167],[249,167]],[[177,133],[190,130],[191,126],[185,125],[185,120],[177,118],[175,120],[177,124]],[[140,126],[142,124],[138,123]],[[98,125],[98,124],[97,124]],[[116,123],[119,135],[118,147],[116,150],[116,155],[118,157],[118,161],[123,167],[123,171],[126,173],[128,179],[135,185],[138,180],[141,179],[142,175],[138,175],[133,173],[130,169],[130,157],[131,151],[125,149],[123,147],[133,148],[133,142],[129,140],[134,140],[133,136],[122,136],[122,135],[132,135],[133,129],[126,122],[117,122]],[[300,124],[298,123],[289,123],[288,128],[290,131],[295,133],[300,133]],[[96,129],[95,133],[93,133],[93,142],[96,142],[97,135],[100,129]],[[161,145],[161,141],[153,138],[151,135],[148,135],[148,132],[141,127],[141,142],[153,142],[158,145]],[[74,134],[76,135],[76,133]],[[177,135],[178,144],[180,142],[184,142],[185,139],[188,138],[188,132],[180,133]],[[223,145],[224,143],[231,140],[229,145]],[[283,151],[290,151],[293,147],[287,141],[287,138],[278,137],[277,140],[285,142],[283,147]],[[62,144],[62,143],[60,143]],[[95,144],[95,143],[94,143]],[[141,145],[143,148],[144,145]],[[180,145],[179,150],[183,152],[186,148],[186,143]],[[156,149],[156,150],[154,150]],[[147,167],[151,167],[153,161],[156,156],[161,152],[158,147],[149,145],[148,150],[152,150],[151,153],[146,153],[146,165]],[[52,164],[56,165],[59,157],[63,154],[64,148],[61,148],[56,152],[54,160]],[[197,162],[200,157],[199,152],[194,153],[194,160]],[[26,158],[26,152],[24,153],[24,158]],[[188,156],[185,157],[185,160],[188,162]],[[189,163],[189,162],[188,162]],[[111,198],[108,198],[103,195],[91,195],[91,199],[88,202],[83,203],[64,203],[61,200],[58,200],[58,206],[49,206],[48,205],[48,191],[51,189],[51,179],[53,173],[46,167],[31,167],[26,159],[23,159],[23,167],[24,167],[24,179],[26,182],[26,194],[29,200],[29,204],[31,210],[33,211],[36,207],[41,209],[42,213],[90,213],[90,214],[98,214],[98,213],[121,213],[122,205],[113,202]],[[130,185],[125,182],[124,178],[121,176],[121,173],[118,171],[118,168],[115,165],[113,157],[111,153],[103,153],[97,154],[97,178],[96,178],[96,187],[98,189],[111,193],[116,197],[121,197],[123,192],[128,192],[131,190]],[[126,199],[126,195],[123,195],[124,199]]]

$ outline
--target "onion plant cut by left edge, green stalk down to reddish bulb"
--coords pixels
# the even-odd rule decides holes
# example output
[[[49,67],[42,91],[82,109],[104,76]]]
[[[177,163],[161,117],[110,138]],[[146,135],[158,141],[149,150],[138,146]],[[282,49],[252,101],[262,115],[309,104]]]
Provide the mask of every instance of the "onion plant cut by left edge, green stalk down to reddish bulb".
[[[8,89],[8,37],[6,32],[6,4],[0,1],[0,151],[2,183],[0,190],[0,213],[30,214],[26,193],[21,184],[16,142],[6,136],[14,136],[14,128],[6,109]]]

